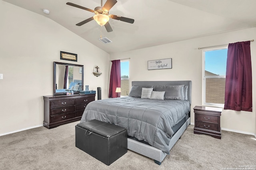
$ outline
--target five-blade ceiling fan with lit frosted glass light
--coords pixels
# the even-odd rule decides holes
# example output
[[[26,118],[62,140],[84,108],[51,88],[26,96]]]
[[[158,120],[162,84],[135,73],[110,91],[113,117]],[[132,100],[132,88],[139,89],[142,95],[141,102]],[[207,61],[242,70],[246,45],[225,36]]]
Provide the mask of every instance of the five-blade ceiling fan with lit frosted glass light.
[[[97,6],[96,8],[94,8],[94,10],[73,4],[71,2],[67,2],[66,4],[70,5],[70,6],[74,6],[76,8],[80,8],[82,10],[93,12],[95,14],[93,17],[88,18],[80,23],[77,23],[76,25],[81,26],[89,21],[95,20],[100,26],[104,25],[106,30],[108,32],[111,32],[113,30],[112,30],[110,24],[108,23],[110,18],[112,18],[114,20],[128,22],[128,23],[134,23],[134,19],[125,18],[122,16],[116,16],[113,14],[108,14],[109,10],[116,4],[116,2],[117,2],[116,0],[107,0],[106,3],[104,4],[104,6],[102,6],[102,0],[101,0],[101,6]]]

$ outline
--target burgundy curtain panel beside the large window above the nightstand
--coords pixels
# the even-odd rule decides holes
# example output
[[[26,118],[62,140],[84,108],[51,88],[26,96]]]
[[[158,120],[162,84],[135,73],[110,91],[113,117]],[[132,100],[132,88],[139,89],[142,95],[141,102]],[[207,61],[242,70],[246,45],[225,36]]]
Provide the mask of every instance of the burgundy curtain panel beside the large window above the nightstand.
[[[250,41],[228,45],[224,109],[252,111]]]

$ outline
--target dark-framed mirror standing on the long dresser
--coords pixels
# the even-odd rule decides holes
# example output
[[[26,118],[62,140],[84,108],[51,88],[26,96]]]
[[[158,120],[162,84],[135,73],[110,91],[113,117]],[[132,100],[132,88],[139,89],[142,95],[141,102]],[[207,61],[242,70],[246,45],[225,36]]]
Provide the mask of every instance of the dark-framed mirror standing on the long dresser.
[[[66,94],[70,90],[78,94],[84,89],[84,65],[54,61],[53,77],[53,95]]]

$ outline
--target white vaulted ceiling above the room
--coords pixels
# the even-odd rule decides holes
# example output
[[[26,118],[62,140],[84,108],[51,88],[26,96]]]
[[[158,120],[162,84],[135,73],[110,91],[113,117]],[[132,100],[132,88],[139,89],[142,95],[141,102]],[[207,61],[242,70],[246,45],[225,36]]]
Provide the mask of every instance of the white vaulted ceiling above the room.
[[[112,32],[94,20],[77,26],[94,13],[66,5],[71,2],[94,10],[100,6],[100,0],[4,1],[54,20],[107,53],[256,27],[256,0],[117,0],[109,14],[135,21],[131,24],[110,19]],[[50,14],[44,14],[43,9]],[[102,43],[100,36],[112,43]]]

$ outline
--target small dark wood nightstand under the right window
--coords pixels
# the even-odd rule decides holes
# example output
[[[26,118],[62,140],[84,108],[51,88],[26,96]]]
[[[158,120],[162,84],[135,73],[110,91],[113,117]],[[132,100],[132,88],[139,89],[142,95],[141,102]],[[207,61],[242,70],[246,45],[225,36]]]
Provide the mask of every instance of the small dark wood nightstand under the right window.
[[[222,109],[217,107],[195,106],[195,134],[207,134],[221,139],[220,115]]]

